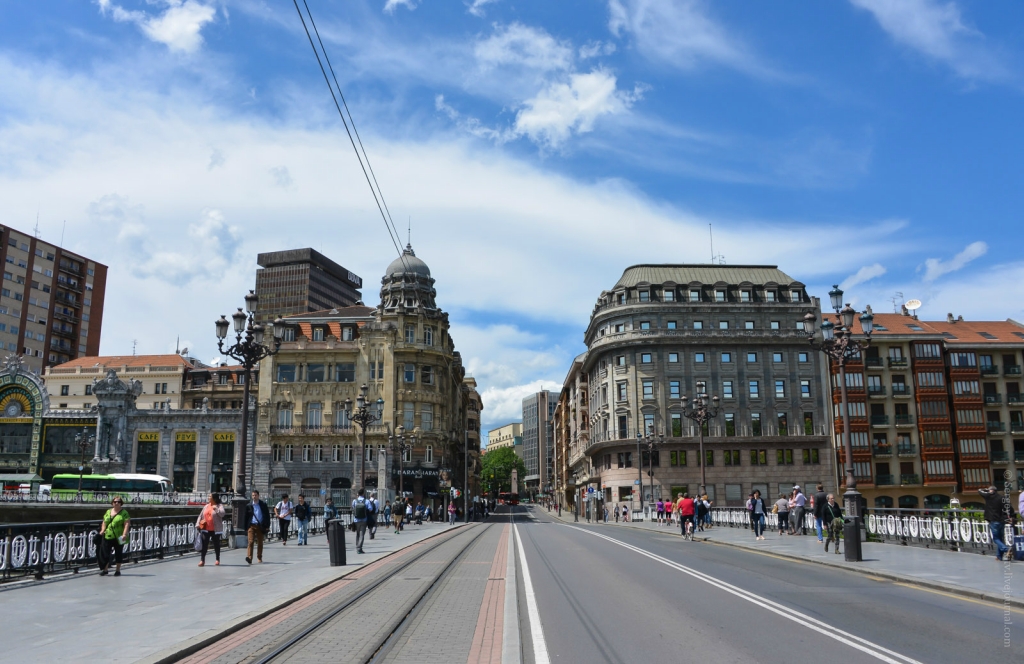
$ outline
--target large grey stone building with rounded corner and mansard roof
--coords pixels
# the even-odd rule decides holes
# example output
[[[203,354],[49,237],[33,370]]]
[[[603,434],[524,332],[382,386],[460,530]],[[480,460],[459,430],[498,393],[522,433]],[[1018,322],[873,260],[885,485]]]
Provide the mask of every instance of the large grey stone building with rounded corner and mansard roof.
[[[559,399],[566,504],[593,488],[606,503],[638,507],[639,480],[645,502],[693,495],[701,463],[718,506],[742,505],[754,489],[777,497],[820,482],[835,491],[826,369],[802,328],[819,308],[774,265],[628,267],[598,298],[587,352]],[[721,400],[705,459],[681,401],[697,393]],[[662,441],[650,459],[638,431]]]

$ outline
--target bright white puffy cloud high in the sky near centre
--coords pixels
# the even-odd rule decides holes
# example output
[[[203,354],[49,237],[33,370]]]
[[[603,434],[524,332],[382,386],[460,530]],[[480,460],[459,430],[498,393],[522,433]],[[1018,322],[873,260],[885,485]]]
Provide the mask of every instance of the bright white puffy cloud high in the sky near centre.
[[[566,83],[553,83],[532,99],[526,99],[516,114],[515,132],[538,143],[557,148],[569,134],[586,133],[604,115],[629,111],[642,96],[642,89],[625,92],[606,70],[572,74]]]

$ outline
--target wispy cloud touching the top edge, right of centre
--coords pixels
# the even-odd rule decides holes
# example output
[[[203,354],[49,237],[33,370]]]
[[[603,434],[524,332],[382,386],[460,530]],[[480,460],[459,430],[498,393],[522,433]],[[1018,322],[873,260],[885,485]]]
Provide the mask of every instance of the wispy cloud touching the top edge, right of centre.
[[[633,37],[637,50],[678,69],[715,64],[775,76],[708,12],[702,0],[609,0],[608,29]]]

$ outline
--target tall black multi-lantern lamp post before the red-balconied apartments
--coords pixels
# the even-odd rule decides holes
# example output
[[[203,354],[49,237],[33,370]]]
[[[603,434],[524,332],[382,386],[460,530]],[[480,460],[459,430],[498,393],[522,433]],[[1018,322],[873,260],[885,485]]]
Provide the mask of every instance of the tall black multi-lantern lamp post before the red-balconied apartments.
[[[843,502],[846,503],[846,514],[856,529],[851,529],[853,536],[857,538],[855,546],[850,546],[850,538],[847,538],[846,558],[860,561],[860,492],[857,491],[857,479],[853,472],[853,442],[850,440],[850,406],[846,393],[846,365],[851,359],[859,357],[861,351],[870,345],[874,317],[869,310],[860,315],[860,328],[864,336],[861,339],[854,339],[853,321],[857,316],[856,309],[849,303],[843,306],[843,291],[838,285],[833,286],[833,290],[828,291],[828,298],[831,301],[833,309],[836,310],[836,323],[823,321],[819,326],[821,341],[817,341],[814,330],[817,317],[813,313],[808,313],[804,317],[804,331],[807,333],[807,340],[811,347],[824,352],[831,362],[839,365],[840,399],[843,409],[843,456],[845,457],[846,470],[846,493],[843,494]]]

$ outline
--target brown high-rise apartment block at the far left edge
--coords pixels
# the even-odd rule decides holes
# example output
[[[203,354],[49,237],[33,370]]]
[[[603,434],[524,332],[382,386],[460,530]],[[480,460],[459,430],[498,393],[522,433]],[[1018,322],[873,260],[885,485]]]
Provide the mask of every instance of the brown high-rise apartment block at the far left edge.
[[[46,367],[99,354],[106,265],[0,225],[0,347]]]

